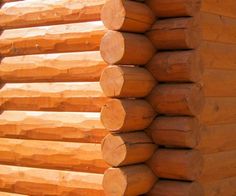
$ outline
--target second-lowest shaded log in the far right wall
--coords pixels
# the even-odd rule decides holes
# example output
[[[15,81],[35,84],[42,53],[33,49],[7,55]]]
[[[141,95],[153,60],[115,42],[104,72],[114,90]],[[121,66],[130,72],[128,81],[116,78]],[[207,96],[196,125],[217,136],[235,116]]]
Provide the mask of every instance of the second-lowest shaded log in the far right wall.
[[[203,156],[204,165],[198,181],[208,183],[236,176],[236,150]]]

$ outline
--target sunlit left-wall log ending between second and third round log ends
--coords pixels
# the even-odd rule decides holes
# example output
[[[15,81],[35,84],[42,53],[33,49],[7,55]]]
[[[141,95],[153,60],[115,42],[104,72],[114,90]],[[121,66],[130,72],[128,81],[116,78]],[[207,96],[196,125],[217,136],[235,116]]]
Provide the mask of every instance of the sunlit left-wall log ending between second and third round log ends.
[[[98,51],[5,57],[0,63],[0,81],[99,81],[106,66]]]

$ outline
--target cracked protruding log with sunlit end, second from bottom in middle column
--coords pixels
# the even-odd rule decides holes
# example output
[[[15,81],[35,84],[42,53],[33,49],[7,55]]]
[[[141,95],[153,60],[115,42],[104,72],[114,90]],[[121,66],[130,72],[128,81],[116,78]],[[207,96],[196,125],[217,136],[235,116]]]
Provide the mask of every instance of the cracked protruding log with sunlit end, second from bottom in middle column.
[[[109,134],[102,142],[103,159],[116,167],[145,162],[155,149],[144,132]]]

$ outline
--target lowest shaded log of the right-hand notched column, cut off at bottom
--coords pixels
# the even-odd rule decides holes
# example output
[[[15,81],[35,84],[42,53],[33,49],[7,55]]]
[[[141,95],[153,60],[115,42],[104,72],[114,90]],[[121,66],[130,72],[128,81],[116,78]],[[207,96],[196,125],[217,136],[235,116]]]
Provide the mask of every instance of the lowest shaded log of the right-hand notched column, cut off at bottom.
[[[158,181],[148,196],[200,196],[204,195],[203,187],[197,182]]]

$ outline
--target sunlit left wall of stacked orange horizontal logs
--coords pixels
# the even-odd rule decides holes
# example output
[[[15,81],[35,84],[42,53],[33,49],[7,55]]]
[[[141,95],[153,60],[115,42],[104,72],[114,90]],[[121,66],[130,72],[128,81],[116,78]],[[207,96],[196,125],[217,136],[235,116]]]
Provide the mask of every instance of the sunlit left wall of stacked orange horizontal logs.
[[[1,1],[0,195],[104,195],[104,2]]]

